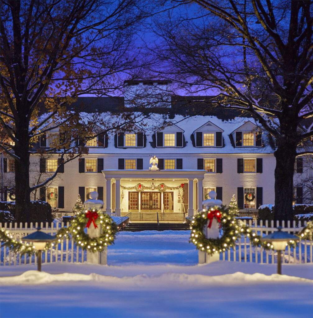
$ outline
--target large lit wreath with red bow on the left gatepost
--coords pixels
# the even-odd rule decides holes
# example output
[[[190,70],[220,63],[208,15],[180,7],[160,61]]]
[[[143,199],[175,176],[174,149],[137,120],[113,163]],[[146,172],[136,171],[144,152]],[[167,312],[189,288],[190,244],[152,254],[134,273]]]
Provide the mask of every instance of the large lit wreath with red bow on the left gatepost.
[[[100,236],[91,238],[84,229],[89,226],[102,229]],[[96,209],[85,210],[71,221],[68,228],[61,228],[57,232],[57,240],[61,242],[62,237],[71,235],[75,243],[85,251],[102,252],[105,246],[114,243],[117,233],[117,225],[107,214]]]

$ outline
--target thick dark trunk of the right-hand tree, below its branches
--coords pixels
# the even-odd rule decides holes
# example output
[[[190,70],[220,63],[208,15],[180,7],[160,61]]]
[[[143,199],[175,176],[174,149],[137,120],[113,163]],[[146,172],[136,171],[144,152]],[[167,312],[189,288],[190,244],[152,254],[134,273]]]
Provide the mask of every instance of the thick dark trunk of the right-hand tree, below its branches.
[[[275,213],[274,220],[292,220],[293,218],[293,177],[297,144],[286,139],[277,142],[275,168]],[[287,224],[286,224],[287,225]]]

